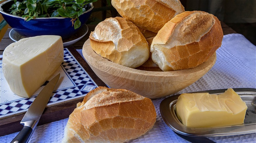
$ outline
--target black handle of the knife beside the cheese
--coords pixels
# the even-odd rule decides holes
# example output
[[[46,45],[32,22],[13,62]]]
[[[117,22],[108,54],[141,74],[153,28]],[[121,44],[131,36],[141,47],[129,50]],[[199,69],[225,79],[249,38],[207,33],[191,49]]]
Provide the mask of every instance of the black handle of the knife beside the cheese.
[[[11,141],[11,143],[26,143],[29,141],[32,134],[32,128],[29,126],[23,126],[18,135]]]

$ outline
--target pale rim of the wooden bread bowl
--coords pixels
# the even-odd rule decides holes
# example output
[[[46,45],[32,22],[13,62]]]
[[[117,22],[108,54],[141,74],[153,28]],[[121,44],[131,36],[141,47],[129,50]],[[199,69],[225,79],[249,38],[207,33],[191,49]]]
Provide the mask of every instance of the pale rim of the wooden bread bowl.
[[[148,75],[148,76],[155,76],[155,77],[162,77],[162,76],[175,77],[175,76],[184,75],[184,73],[192,74],[192,73],[200,72],[202,70],[205,70],[205,68],[209,67],[213,63],[213,65],[209,67],[209,69],[211,69],[214,66],[214,64],[216,63],[216,52],[215,52],[213,55],[211,55],[209,57],[209,59],[207,61],[198,65],[195,68],[178,70],[178,71],[143,71],[143,70],[125,67],[125,66],[119,65],[117,63],[111,62],[110,60],[97,55],[93,51],[93,49],[90,48],[88,45],[90,45],[90,38],[88,40],[86,40],[83,45],[83,50],[82,50],[83,53],[85,52],[86,55],[90,56],[91,58],[96,59],[96,61],[100,62],[101,64],[105,64],[106,66],[109,66],[109,67],[112,67],[112,68],[115,68],[118,70],[122,70],[123,72],[125,71],[125,72],[139,74],[139,75]],[[84,48],[87,48],[89,50],[84,50]],[[88,52],[90,52],[90,53],[88,53]]]

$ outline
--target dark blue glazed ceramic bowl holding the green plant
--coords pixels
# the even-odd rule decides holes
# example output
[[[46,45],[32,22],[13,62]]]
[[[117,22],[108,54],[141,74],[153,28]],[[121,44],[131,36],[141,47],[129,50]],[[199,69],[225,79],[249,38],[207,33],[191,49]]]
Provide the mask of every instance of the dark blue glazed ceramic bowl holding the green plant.
[[[80,28],[74,29],[71,18],[64,17],[36,18],[26,22],[24,18],[6,12],[13,3],[13,0],[3,2],[0,6],[0,13],[6,22],[22,36],[59,35],[65,39],[74,35]],[[90,5],[91,8],[79,16],[81,25],[85,24],[91,15],[94,6],[92,3]]]

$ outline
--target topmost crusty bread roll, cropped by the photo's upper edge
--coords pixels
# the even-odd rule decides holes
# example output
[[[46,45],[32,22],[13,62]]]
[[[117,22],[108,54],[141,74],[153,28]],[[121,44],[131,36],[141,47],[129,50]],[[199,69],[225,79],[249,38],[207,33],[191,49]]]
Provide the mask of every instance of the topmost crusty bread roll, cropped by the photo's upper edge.
[[[111,3],[123,18],[155,33],[185,11],[180,0],[112,0]]]

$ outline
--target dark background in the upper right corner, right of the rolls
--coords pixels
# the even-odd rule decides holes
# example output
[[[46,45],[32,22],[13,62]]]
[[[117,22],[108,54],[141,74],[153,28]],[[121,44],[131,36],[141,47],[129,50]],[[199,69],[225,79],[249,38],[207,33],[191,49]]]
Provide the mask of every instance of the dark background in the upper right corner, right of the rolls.
[[[185,10],[201,10],[218,17],[256,45],[256,0],[181,0]]]

